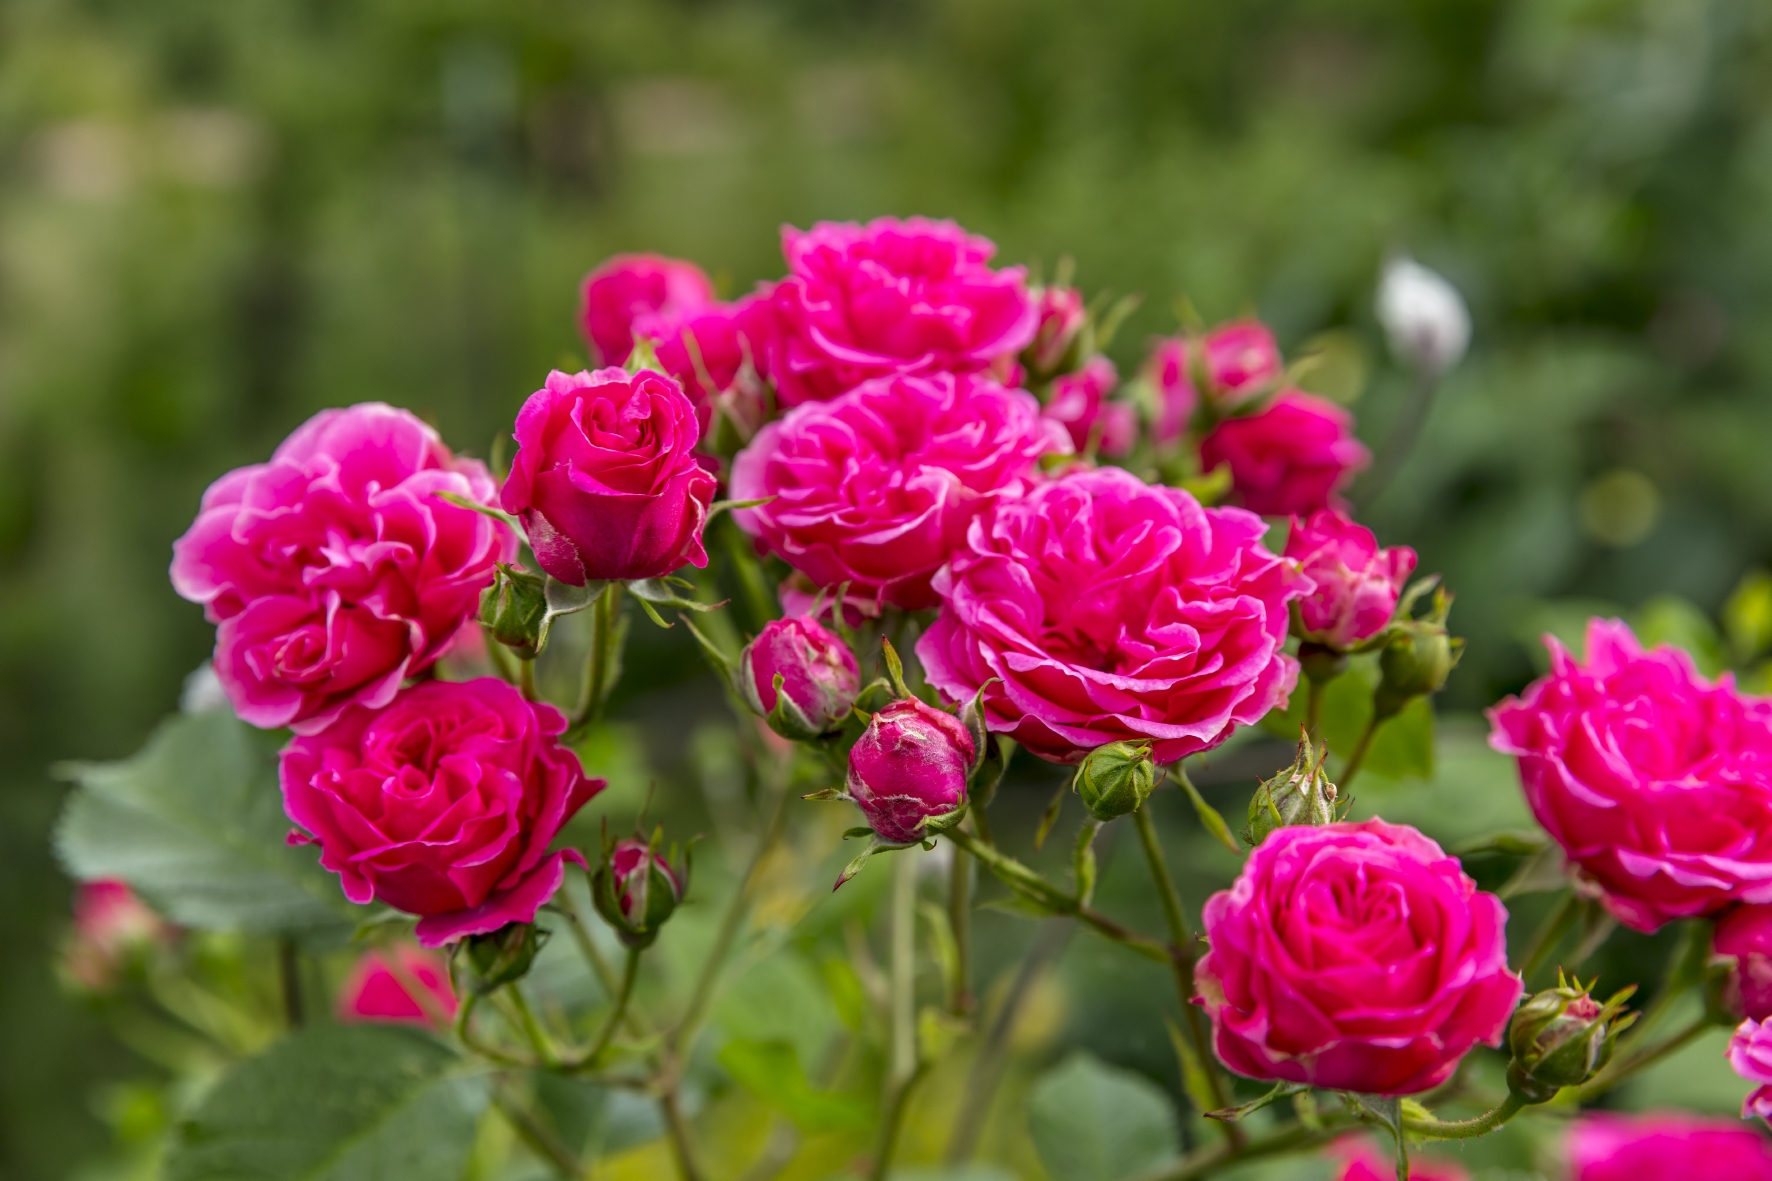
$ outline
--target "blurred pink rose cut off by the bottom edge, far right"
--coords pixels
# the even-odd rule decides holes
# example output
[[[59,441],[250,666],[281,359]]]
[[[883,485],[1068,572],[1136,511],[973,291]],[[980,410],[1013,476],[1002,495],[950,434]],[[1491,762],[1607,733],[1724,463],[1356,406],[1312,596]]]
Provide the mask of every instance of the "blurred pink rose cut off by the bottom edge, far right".
[[[1690,1112],[1593,1112],[1568,1133],[1570,1181],[1772,1181],[1772,1146],[1753,1128]]]

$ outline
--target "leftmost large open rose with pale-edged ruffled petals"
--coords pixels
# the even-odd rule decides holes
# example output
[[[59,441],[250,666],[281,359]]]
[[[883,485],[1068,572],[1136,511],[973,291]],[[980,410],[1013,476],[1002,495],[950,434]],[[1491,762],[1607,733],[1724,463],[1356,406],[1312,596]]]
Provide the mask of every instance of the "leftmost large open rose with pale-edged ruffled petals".
[[[214,672],[243,720],[312,732],[385,706],[450,645],[516,557],[494,484],[404,410],[323,410],[204,493],[172,544],[174,589],[216,628]]]

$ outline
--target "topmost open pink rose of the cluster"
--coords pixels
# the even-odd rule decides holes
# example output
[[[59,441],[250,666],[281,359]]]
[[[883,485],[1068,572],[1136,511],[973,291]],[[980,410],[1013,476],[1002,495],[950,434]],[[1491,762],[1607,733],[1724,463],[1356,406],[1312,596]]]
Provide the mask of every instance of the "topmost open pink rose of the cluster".
[[[785,406],[888,374],[976,372],[1012,358],[1038,326],[1022,268],[991,270],[996,246],[953,222],[783,225],[781,254],[769,372]]]

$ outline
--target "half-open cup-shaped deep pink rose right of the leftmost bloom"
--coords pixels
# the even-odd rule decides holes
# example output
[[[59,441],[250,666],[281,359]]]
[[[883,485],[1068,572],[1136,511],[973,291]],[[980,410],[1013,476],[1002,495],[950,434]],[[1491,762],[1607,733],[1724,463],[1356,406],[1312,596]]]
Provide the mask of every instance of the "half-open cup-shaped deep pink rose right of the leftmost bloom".
[[[555,371],[517,411],[505,512],[523,518],[540,567],[574,587],[707,566],[719,482],[696,459],[700,438],[695,404],[661,372]]]

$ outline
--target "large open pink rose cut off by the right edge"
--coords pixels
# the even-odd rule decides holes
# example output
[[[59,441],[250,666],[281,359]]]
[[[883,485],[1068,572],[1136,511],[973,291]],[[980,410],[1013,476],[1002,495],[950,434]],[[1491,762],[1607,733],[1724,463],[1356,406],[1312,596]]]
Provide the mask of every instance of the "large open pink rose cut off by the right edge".
[[[1588,663],[1545,638],[1550,674],[1488,711],[1533,816],[1628,927],[1772,903],[1772,702],[1710,683],[1620,621]]]

